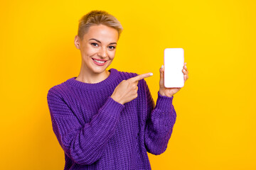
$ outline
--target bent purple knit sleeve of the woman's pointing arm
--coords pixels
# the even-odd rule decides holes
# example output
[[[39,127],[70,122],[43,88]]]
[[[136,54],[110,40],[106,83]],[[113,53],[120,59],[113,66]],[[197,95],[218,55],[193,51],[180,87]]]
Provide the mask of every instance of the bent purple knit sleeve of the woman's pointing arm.
[[[81,125],[55,90],[48,91],[47,100],[53,132],[65,154],[77,164],[92,164],[100,159],[107,142],[114,135],[124,105],[109,97],[90,123]]]

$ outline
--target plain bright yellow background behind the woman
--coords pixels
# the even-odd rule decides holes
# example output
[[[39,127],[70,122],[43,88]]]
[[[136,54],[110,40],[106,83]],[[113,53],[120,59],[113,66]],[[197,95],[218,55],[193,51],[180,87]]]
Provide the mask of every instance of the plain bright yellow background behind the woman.
[[[256,169],[255,2],[2,1],[1,168],[63,169],[46,96],[78,76],[78,20],[100,9],[124,31],[112,65],[153,72],[156,101],[164,49],[182,47],[189,79],[174,95],[169,146],[152,169]]]

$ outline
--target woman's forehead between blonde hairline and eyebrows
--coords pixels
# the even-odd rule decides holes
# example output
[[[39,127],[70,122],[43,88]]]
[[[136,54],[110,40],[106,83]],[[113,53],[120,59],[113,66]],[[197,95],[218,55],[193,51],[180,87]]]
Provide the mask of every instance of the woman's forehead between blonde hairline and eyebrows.
[[[89,40],[90,38],[96,38],[102,41],[117,41],[118,31],[112,27],[105,25],[90,26],[84,38]]]

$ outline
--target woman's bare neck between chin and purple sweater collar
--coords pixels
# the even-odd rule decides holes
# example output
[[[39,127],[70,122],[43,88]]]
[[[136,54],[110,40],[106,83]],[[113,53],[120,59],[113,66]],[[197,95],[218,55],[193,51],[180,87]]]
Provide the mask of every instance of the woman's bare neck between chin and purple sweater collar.
[[[76,80],[85,82],[87,84],[96,84],[96,83],[99,83],[100,81],[107,79],[107,77],[109,77],[110,75],[110,72],[108,72],[107,70],[99,74],[86,72],[85,70],[86,69],[80,70],[80,74],[78,75]]]

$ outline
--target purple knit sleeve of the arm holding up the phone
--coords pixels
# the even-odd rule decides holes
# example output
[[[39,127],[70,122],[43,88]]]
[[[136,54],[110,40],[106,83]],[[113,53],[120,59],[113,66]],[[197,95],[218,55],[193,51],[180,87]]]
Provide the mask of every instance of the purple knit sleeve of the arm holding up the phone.
[[[167,148],[174,123],[176,122],[176,111],[172,105],[174,96],[161,96],[158,91],[155,106],[149,87],[147,85],[144,87],[147,101],[147,119],[145,127],[146,150],[151,154],[162,154]]]

